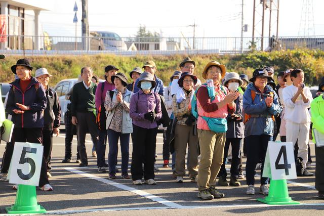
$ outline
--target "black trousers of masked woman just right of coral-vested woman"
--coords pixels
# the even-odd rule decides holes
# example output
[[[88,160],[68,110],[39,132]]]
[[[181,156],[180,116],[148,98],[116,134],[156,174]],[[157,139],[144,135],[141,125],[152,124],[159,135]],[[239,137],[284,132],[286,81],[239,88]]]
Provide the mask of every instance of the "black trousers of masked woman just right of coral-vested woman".
[[[226,138],[225,147],[224,147],[224,160],[219,170],[219,176],[227,176],[225,168],[225,160],[228,155],[229,144],[232,146],[232,162],[231,162],[231,177],[236,177],[239,174],[239,164],[241,162],[240,149],[242,144],[241,138]]]

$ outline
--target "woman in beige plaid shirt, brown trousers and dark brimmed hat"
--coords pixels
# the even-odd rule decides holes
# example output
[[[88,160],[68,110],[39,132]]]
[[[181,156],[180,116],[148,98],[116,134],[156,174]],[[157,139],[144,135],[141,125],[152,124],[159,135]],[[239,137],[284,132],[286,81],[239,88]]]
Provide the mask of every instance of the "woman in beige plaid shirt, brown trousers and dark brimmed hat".
[[[173,96],[173,114],[177,118],[175,128],[176,182],[182,183],[185,171],[185,157],[188,145],[188,171],[191,182],[197,182],[198,174],[198,137],[195,132],[195,118],[191,114],[190,99],[197,77],[190,72],[183,72],[178,80],[183,93]],[[181,97],[179,97],[181,96]],[[190,157],[190,159],[189,159]]]

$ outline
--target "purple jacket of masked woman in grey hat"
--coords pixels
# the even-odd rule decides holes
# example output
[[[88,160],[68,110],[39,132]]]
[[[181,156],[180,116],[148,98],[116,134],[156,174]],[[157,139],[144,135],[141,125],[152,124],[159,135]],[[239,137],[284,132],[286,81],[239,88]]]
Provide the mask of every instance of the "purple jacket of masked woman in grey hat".
[[[153,122],[144,118],[147,112],[155,112],[156,118]],[[160,97],[157,93],[145,94],[142,90],[134,93],[130,102],[130,116],[136,126],[150,129],[157,127],[156,121],[162,117]]]

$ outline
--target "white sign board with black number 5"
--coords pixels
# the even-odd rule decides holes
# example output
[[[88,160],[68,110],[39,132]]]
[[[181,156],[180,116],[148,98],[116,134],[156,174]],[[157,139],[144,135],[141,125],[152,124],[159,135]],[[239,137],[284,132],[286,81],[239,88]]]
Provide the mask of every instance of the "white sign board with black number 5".
[[[36,143],[15,143],[9,167],[9,183],[38,186],[43,148]]]

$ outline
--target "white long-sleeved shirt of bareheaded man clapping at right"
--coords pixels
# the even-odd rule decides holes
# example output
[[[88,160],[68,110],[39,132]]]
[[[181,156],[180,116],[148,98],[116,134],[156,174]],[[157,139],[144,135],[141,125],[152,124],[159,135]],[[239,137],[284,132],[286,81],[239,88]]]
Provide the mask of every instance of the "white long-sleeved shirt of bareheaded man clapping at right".
[[[302,96],[299,95],[296,102],[291,100],[297,93],[298,88],[294,84],[282,90],[285,104],[285,120],[297,124],[306,124],[310,122],[308,108],[313,100],[312,94],[308,87],[304,88],[304,94],[308,98],[308,102],[304,103]]]

